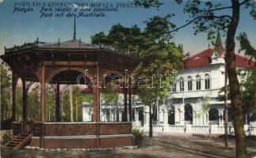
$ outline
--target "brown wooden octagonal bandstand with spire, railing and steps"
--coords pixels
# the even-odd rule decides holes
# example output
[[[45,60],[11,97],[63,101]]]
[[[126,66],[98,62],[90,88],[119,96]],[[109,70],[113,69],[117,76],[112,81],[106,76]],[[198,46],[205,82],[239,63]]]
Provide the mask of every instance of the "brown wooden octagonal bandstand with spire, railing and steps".
[[[132,145],[132,122],[100,121],[100,86],[93,86],[93,122],[61,122],[59,85],[77,84],[79,75],[84,75],[84,84],[94,75],[93,85],[102,85],[105,75],[119,75],[124,70],[133,70],[138,63],[132,53],[116,51],[111,47],[98,47],[72,40],[44,43],[37,40],[7,49],[1,56],[13,73],[13,114],[17,79],[21,78],[23,89],[23,120],[15,122],[13,115],[13,140],[7,146],[19,149],[26,143],[45,149],[109,148]],[[40,82],[40,122],[27,120],[26,81]],[[45,122],[45,84],[56,86],[55,121]],[[124,107],[127,105],[127,88],[124,86]],[[130,90],[130,93],[132,90]],[[127,106],[126,106],[127,107]],[[124,108],[125,111],[125,108]],[[126,108],[127,111],[127,108]],[[126,112],[127,113],[127,112]],[[126,120],[128,121],[127,117]]]

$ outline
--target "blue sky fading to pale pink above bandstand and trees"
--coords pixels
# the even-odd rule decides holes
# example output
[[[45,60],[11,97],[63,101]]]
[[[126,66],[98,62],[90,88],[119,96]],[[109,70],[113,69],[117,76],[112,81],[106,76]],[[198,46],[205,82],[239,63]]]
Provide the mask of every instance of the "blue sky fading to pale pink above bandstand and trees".
[[[24,43],[33,42],[38,37],[40,41],[57,42],[71,40],[73,38],[74,17],[42,17],[40,18],[41,7],[33,7],[33,12],[14,12],[15,4],[19,2],[66,2],[72,4],[87,3],[111,3],[114,6],[118,4],[127,4],[132,1],[128,0],[0,0],[0,55],[4,53],[4,47],[13,47]],[[230,6],[227,0],[217,0],[223,6]],[[150,8],[119,8],[117,12],[105,13],[105,17],[81,17],[76,19],[77,38],[83,42],[90,43],[90,36],[97,32],[107,33],[113,24],[120,23],[125,27],[134,24],[143,29],[150,17],[156,15],[165,16],[168,13],[174,13],[171,22],[180,26],[189,20],[188,14],[182,12],[182,6],[177,5],[171,0],[163,1],[164,5],[159,9]],[[20,6],[22,8],[22,6]],[[230,10],[229,10],[230,11]],[[67,13],[67,12],[66,12]],[[256,47],[256,21],[249,15],[249,10],[241,9],[239,27],[237,32],[247,32],[248,38],[252,45]],[[206,33],[193,35],[193,25],[182,28],[174,34],[174,42],[183,45],[185,52],[194,54],[208,48],[210,41],[207,40]],[[222,37],[224,43],[224,37]],[[210,46],[212,47],[212,46]],[[235,50],[239,50],[239,43],[236,44]]]

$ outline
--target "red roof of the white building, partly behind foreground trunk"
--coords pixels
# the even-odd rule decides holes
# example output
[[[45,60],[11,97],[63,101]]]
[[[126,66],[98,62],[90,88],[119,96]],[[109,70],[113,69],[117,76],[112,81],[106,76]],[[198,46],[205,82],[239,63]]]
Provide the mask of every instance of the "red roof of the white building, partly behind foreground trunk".
[[[189,58],[185,59],[185,68],[210,65],[212,63],[211,57],[213,53],[214,50],[208,48],[204,51],[197,53],[196,55],[191,55]],[[254,66],[254,63],[254,61],[250,61],[250,59],[245,58],[242,55],[235,55],[235,65],[237,67],[250,68]]]

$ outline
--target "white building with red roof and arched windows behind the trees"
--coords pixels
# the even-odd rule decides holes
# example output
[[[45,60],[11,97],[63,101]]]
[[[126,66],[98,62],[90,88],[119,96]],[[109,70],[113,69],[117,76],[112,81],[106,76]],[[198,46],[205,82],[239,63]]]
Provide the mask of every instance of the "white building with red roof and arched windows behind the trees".
[[[236,55],[236,66],[243,70],[254,66],[254,63]],[[224,72],[224,47],[218,34],[213,49],[208,48],[185,59],[185,66],[178,70],[169,99],[163,105],[153,107],[153,130],[166,133],[224,134],[224,100],[220,99],[220,96],[224,96],[224,92],[220,92],[224,87]],[[132,104],[133,126],[147,131],[149,108],[136,101]],[[122,105],[123,102],[117,103],[118,112],[113,109],[115,106],[101,107],[101,111],[107,111],[103,112],[105,116],[102,115],[101,121],[120,121],[117,113],[121,118]],[[83,114],[86,116],[85,109]],[[232,134],[231,113],[228,114],[229,132]],[[246,133],[256,134],[256,126],[248,126],[247,115],[244,117]]]

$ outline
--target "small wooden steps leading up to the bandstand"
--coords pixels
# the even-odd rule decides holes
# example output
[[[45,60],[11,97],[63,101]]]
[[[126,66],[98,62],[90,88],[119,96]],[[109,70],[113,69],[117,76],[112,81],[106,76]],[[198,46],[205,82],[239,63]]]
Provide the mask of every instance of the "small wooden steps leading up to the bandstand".
[[[23,146],[27,145],[32,138],[32,134],[18,134],[13,136],[13,139],[6,143],[7,148],[21,149]]]

